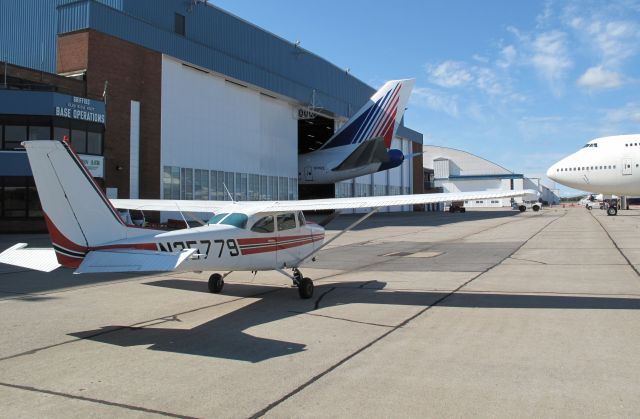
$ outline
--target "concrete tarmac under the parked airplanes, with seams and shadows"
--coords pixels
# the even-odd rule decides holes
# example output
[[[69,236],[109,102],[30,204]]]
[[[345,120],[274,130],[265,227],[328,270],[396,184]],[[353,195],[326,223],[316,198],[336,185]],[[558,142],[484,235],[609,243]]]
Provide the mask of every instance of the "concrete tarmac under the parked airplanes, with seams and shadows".
[[[639,233],[638,211],[378,214],[302,268],[311,300],[274,272],[214,295],[0,265],[0,417],[635,417]]]

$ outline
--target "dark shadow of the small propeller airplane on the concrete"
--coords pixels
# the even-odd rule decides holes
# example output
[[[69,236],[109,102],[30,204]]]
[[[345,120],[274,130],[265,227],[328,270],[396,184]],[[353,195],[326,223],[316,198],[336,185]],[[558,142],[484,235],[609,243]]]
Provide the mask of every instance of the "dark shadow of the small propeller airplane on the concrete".
[[[150,283],[150,285],[187,291],[202,291],[206,289],[204,281],[192,280],[156,281],[155,283]],[[296,338],[299,338],[297,342],[254,336],[245,332],[248,329],[290,319],[293,316],[313,313],[321,314],[322,311],[318,311],[318,309],[327,309],[352,303],[429,307],[439,301],[437,304],[439,307],[459,308],[640,309],[640,298],[473,292],[456,293],[444,298],[448,293],[384,290],[385,286],[386,283],[381,281],[319,285],[316,286],[316,297],[314,299],[300,300],[295,289],[273,287],[265,292],[264,289],[270,287],[262,286],[262,292],[256,294],[255,285],[227,284],[225,285],[226,295],[261,298],[253,304],[190,329],[180,328],[179,322],[181,320],[178,315],[158,319],[156,322],[151,322],[144,327],[105,326],[97,330],[83,331],[71,335],[121,347],[148,345],[149,349],[156,351],[255,363],[302,352],[306,349],[306,344],[302,342],[307,339],[314,339],[306,337],[305,328],[301,328],[299,332],[296,332],[290,323],[282,326],[276,325],[275,327],[289,328],[286,333],[295,334]],[[215,301],[215,299],[215,296],[212,296],[212,301]],[[344,320],[350,321],[351,319],[344,318]],[[362,321],[361,315],[358,320]],[[335,318],[331,321],[335,321]],[[171,327],[172,322],[177,322],[177,328]]]

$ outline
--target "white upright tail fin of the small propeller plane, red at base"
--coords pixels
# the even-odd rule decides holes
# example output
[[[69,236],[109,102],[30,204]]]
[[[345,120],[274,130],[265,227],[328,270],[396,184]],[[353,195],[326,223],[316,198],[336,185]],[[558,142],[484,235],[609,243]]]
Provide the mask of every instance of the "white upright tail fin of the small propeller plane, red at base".
[[[91,248],[127,237],[132,228],[122,221],[67,143],[23,144],[60,264],[78,266]]]

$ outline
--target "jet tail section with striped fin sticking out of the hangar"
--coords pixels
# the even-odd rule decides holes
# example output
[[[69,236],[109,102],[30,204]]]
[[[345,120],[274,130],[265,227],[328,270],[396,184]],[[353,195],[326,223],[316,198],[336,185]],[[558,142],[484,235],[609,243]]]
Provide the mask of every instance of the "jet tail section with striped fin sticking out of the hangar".
[[[388,81],[322,147],[298,156],[298,182],[335,183],[400,166],[405,155],[391,140],[414,84]]]

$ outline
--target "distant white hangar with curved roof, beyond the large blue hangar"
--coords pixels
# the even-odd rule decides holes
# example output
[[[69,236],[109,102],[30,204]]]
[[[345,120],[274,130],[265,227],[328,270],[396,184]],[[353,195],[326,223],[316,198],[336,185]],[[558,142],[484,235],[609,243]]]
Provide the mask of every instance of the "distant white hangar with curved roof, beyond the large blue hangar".
[[[560,202],[557,191],[540,179],[527,178],[469,152],[433,145],[423,146],[423,151],[424,167],[433,170],[434,187],[443,192],[533,189],[549,204]],[[465,206],[510,207],[511,198],[467,201]]]

